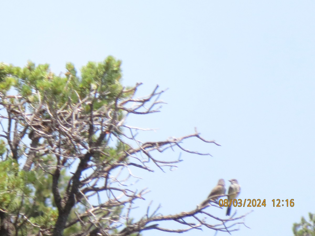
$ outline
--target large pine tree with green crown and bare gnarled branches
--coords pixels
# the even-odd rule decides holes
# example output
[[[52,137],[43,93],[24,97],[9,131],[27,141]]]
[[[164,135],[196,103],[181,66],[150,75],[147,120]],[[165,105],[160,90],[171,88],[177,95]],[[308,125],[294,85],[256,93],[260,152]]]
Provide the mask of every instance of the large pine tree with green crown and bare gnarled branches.
[[[185,232],[201,226],[231,232],[245,217],[221,219],[204,211],[215,202],[174,215],[158,209],[132,219],[141,191],[127,187],[131,169],[162,171],[180,160],[158,160],[154,151],[167,149],[197,155],[182,146],[189,138],[215,143],[193,134],[163,141],[141,142],[143,129],[125,124],[130,114],[159,112],[164,92],[154,88],[136,98],[140,83],[121,84],[121,61],[107,57],[89,62],[81,76],[73,64],[56,76],[49,65],[28,62],[26,67],[0,64],[0,234],[1,235],[139,235],[144,230]],[[123,179],[123,173],[127,177]],[[101,197],[100,197],[101,196]],[[216,205],[217,206],[217,205]],[[206,222],[209,216],[215,223]],[[174,221],[182,227],[163,228]]]

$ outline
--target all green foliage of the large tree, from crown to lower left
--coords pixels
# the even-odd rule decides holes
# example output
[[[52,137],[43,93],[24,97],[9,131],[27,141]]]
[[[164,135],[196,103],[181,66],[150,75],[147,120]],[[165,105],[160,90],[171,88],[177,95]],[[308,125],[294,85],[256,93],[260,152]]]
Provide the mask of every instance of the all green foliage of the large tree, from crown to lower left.
[[[85,111],[86,114],[89,114],[92,109],[94,111],[102,109],[104,105],[108,104],[110,104],[111,108],[114,108],[116,99],[126,98],[133,93],[133,91],[123,95],[121,93],[123,86],[121,85],[122,73],[120,66],[121,61],[109,56],[100,63],[87,63],[81,69],[81,76],[77,75],[77,70],[72,63],[66,63],[64,76],[56,76],[50,71],[48,64],[35,65],[29,61],[24,68],[20,68],[0,63],[0,95],[6,95],[10,89],[15,89],[19,95],[16,98],[3,99],[1,102],[3,105],[9,104],[10,107],[20,112],[27,110],[32,113],[40,108],[41,101],[45,101],[50,110],[60,109],[62,111],[67,110],[67,107],[76,105],[92,94],[94,98],[93,106],[91,103],[83,103],[82,113]],[[21,107],[17,104],[23,104],[23,106]],[[51,113],[43,110],[38,114],[36,120],[42,123],[37,125],[37,127],[47,128],[43,132],[51,133],[52,131],[49,131],[50,123],[44,123],[45,120],[51,118]],[[123,112],[117,111],[116,120],[120,121],[123,118]],[[15,120],[15,122],[21,127],[20,130],[27,126],[26,122],[23,122],[21,118]],[[29,127],[27,131],[29,137],[32,131],[34,130]],[[120,135],[122,130],[116,128],[111,130],[111,132]],[[80,135],[83,138],[88,136],[87,132]],[[97,138],[96,134],[91,136],[93,142]],[[45,143],[47,141],[42,140],[40,142],[47,144]],[[60,140],[61,145],[67,145],[62,143],[62,138]],[[106,138],[102,140],[101,144],[104,147],[102,154],[93,157],[92,161],[96,164],[106,161],[114,162],[129,149],[128,145],[121,142],[117,142],[117,145],[113,147],[109,147],[107,142]],[[18,159],[25,155],[25,148],[23,145],[21,146],[17,150]],[[47,144],[47,146],[49,145]],[[37,153],[33,159],[33,166],[35,166],[33,170],[23,171],[20,170],[16,160],[12,159],[10,150],[8,152],[9,157],[3,157],[7,153],[7,148],[7,143],[0,140],[0,156],[2,156],[3,160],[0,161],[0,209],[8,212],[11,216],[20,217],[19,232],[23,233],[17,233],[16,235],[31,235],[38,233],[38,228],[52,228],[58,217],[58,211],[54,205],[51,191],[52,178],[43,168],[39,168],[38,164],[40,163],[42,166],[56,166],[56,156],[44,152]],[[68,151],[71,155],[75,155],[75,151],[71,150],[71,148]],[[62,177],[60,177],[58,188],[62,195],[66,191],[71,177],[66,175],[66,168],[61,170],[60,175]],[[81,202],[84,201],[84,199],[81,200]],[[76,210],[81,213],[86,211],[86,209],[78,207]],[[119,216],[122,208],[116,207],[109,210],[108,215]],[[104,215],[104,212],[99,214]],[[75,219],[76,217],[74,211],[72,211],[69,219]],[[88,218],[82,221],[88,221]],[[106,224],[107,222],[104,221],[103,223]],[[104,225],[104,227],[106,226]],[[80,230],[81,225],[78,222],[67,228],[65,235],[76,233]]]

